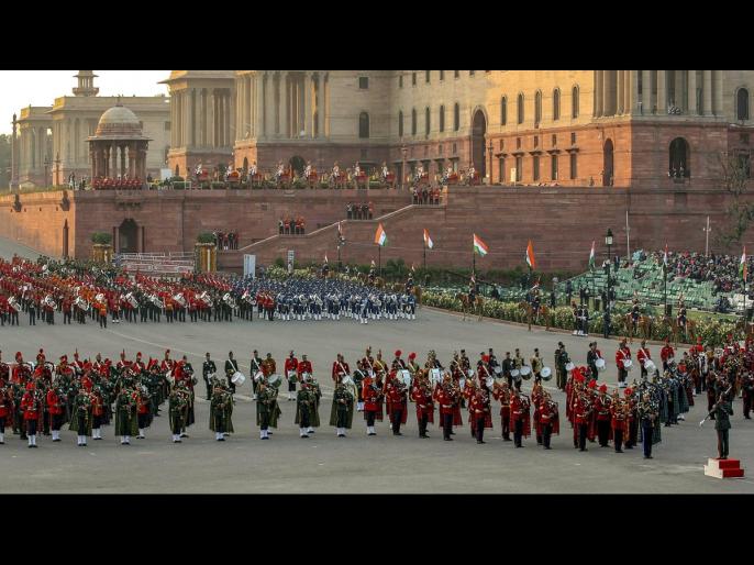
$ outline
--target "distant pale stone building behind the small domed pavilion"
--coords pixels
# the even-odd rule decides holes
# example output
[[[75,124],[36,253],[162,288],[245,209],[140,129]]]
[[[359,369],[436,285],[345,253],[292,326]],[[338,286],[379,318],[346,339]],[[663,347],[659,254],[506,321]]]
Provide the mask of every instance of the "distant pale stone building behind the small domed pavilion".
[[[79,70],[74,96],[56,98],[49,107],[29,107],[19,119],[18,178],[23,186],[57,186],[89,177],[91,158],[87,137],[95,135],[101,115],[121,100],[120,97],[97,96],[97,76]],[[170,102],[166,96],[123,97],[122,100],[142,122],[149,137],[147,173],[154,177],[167,165],[170,146]]]

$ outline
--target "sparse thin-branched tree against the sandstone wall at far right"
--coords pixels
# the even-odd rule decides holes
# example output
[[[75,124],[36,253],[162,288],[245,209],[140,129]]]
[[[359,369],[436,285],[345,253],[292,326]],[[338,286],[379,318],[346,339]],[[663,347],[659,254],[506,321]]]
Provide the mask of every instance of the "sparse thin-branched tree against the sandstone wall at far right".
[[[727,152],[718,155],[720,179],[723,188],[730,195],[730,203],[725,210],[728,221],[717,235],[718,243],[723,247],[741,245],[744,233],[754,220],[754,202],[746,193],[750,178],[749,158],[746,157],[744,155],[731,155]]]

